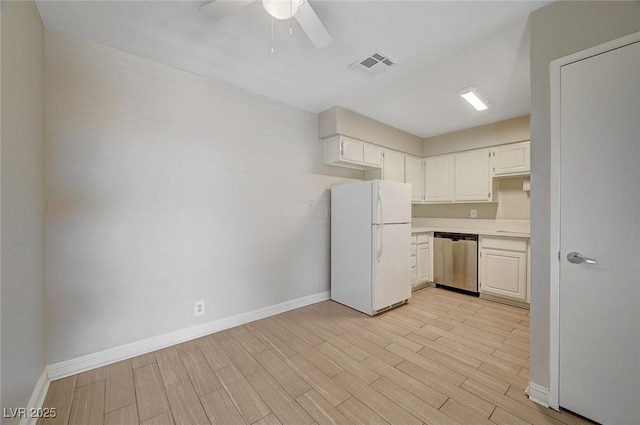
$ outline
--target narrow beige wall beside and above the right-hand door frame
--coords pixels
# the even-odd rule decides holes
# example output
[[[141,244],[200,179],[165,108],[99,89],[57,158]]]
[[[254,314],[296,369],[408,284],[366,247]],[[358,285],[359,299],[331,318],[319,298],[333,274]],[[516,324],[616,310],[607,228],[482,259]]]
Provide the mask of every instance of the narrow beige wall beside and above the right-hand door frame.
[[[531,14],[531,381],[549,386],[550,90],[553,59],[640,31],[637,1],[559,1]]]

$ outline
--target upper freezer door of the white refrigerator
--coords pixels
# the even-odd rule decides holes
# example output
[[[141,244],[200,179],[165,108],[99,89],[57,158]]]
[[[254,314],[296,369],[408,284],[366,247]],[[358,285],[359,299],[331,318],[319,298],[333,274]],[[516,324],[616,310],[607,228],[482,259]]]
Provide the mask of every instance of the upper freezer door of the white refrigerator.
[[[372,224],[411,222],[411,185],[374,180]]]

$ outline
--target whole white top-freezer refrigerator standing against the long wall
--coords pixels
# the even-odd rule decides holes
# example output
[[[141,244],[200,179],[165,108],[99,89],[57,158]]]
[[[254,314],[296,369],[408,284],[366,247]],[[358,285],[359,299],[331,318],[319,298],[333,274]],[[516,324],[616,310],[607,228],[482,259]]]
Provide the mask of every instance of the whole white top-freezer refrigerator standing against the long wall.
[[[368,315],[411,297],[411,185],[331,187],[331,299]]]

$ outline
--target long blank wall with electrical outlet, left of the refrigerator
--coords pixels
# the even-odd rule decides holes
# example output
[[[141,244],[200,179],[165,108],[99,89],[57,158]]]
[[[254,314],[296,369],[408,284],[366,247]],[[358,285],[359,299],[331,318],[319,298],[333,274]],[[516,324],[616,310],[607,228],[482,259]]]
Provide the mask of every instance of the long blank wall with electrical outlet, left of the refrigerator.
[[[317,114],[46,43],[49,363],[329,290]]]

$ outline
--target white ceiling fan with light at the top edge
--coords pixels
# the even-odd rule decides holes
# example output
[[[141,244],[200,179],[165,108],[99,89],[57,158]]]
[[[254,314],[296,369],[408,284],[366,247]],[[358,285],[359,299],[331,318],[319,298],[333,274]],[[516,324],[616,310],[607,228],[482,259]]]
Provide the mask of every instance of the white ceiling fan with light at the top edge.
[[[333,41],[308,0],[213,0],[201,6],[200,11],[210,18],[220,19],[255,1],[261,1],[269,15],[276,19],[295,18],[316,49]]]

